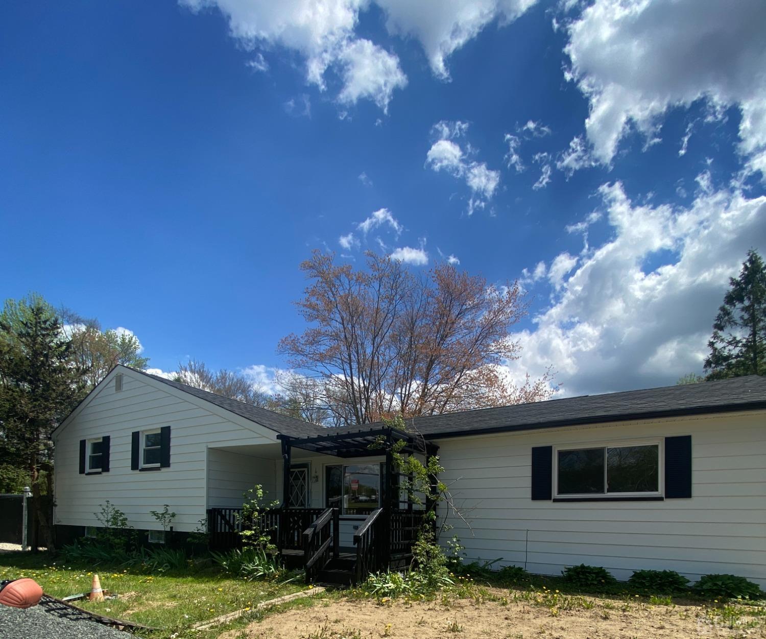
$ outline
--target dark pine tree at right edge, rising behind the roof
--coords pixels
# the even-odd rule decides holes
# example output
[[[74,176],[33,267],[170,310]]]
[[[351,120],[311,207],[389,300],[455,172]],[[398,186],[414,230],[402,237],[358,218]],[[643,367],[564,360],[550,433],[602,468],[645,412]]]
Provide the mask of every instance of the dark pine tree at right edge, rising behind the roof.
[[[708,379],[766,374],[766,267],[752,249],[730,280],[708,346]]]

